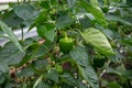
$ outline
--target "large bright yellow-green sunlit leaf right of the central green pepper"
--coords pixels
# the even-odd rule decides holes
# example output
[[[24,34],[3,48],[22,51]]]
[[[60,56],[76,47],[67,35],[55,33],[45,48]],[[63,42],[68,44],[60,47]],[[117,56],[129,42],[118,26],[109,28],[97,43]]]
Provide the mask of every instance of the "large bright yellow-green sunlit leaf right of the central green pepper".
[[[90,43],[91,45],[94,45],[100,53],[105,55],[114,54],[107,37],[99,30],[89,28],[82,33],[82,37],[87,43]]]

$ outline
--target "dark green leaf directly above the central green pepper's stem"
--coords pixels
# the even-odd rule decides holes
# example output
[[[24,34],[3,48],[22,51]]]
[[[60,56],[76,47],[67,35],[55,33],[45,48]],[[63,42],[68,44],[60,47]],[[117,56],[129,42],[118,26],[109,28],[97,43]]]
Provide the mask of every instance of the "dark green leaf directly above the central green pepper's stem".
[[[63,29],[66,26],[70,26],[75,22],[75,19],[68,16],[68,15],[62,15],[57,19],[56,26],[58,29]]]

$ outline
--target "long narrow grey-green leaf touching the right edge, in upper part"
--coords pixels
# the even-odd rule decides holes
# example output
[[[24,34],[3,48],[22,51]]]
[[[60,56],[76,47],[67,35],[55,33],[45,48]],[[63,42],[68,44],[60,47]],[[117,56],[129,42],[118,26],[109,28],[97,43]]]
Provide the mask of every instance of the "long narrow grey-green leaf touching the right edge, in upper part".
[[[120,19],[120,18],[118,18],[118,16],[116,16],[116,15],[108,14],[108,15],[106,15],[106,20],[109,20],[109,21],[120,21],[120,22],[123,23],[123,24],[127,24],[127,25],[129,25],[129,26],[132,26],[132,23],[130,23],[130,22],[128,22],[128,21],[125,21],[125,20],[122,20],[122,19]]]

